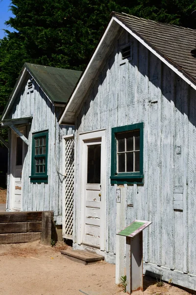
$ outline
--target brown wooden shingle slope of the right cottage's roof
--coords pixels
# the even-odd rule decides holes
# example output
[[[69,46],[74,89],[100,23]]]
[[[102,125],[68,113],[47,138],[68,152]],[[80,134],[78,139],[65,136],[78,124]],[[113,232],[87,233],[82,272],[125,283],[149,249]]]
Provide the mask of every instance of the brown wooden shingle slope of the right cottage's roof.
[[[196,30],[117,12],[112,14],[196,82],[196,58],[191,54],[191,50],[196,48]]]

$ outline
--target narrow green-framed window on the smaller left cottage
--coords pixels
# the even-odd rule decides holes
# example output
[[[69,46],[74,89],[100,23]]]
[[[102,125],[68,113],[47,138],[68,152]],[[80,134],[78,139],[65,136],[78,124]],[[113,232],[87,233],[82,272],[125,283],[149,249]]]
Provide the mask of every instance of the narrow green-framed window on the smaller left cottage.
[[[31,182],[48,182],[48,131],[32,135]]]

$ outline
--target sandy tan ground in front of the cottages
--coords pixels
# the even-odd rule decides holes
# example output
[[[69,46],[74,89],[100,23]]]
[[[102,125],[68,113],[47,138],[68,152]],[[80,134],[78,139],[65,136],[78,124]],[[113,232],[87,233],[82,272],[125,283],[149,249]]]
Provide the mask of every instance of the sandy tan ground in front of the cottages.
[[[125,294],[122,286],[115,285],[114,265],[98,262],[84,266],[65,258],[58,248],[39,242],[0,245],[0,274],[0,295]],[[151,278],[145,278],[144,288],[145,295],[189,294],[166,283],[156,287]]]

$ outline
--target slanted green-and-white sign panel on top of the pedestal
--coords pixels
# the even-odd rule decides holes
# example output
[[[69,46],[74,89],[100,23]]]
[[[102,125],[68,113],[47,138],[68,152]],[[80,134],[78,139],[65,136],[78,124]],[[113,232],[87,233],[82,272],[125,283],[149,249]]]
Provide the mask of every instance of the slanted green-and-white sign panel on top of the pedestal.
[[[134,220],[117,235],[134,237],[146,229],[152,222],[146,220]]]

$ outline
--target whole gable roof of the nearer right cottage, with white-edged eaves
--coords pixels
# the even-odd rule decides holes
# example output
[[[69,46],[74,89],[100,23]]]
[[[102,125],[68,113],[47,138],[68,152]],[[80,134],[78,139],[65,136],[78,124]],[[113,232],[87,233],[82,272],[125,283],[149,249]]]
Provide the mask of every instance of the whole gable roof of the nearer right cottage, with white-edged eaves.
[[[196,89],[196,58],[191,50],[196,48],[196,30],[177,27],[112,12],[112,18],[97,49],[75,88],[59,122],[74,123],[75,114],[90,83],[108,54],[120,28],[127,30],[150,52],[167,64],[177,75]]]

